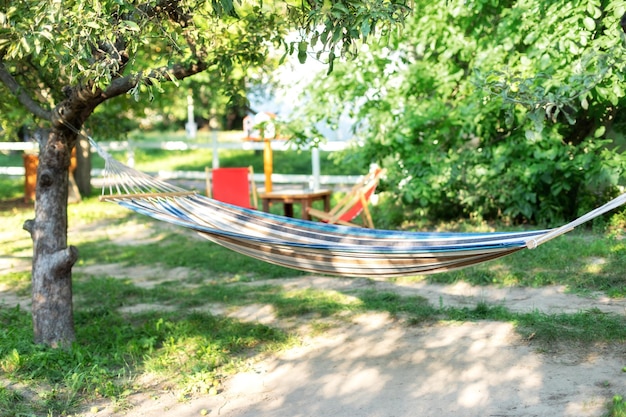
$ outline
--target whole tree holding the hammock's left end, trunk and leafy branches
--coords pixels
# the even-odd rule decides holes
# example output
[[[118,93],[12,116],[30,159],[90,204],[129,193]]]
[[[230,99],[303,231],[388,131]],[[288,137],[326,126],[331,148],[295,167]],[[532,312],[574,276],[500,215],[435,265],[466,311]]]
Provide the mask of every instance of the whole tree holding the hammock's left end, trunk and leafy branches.
[[[168,82],[260,64],[282,46],[306,57],[308,39],[322,43],[330,65],[374,28],[407,14],[403,1],[232,0],[0,1],[0,121],[39,127],[33,239],[35,342],[75,339],[71,270],[78,250],[67,244],[67,183],[77,133],[93,128],[95,110],[116,97],[152,99]],[[287,44],[287,31],[301,31]],[[119,105],[119,102],[117,103]],[[20,108],[23,111],[15,111]],[[110,110],[109,114],[111,111]]]

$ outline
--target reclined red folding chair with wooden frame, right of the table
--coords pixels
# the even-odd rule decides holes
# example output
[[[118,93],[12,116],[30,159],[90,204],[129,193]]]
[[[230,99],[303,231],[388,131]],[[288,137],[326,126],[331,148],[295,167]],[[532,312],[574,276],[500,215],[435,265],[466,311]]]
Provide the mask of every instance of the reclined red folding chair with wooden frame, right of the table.
[[[341,224],[344,226],[359,226],[352,221],[363,214],[363,226],[374,228],[372,215],[370,214],[368,203],[372,194],[378,186],[380,177],[385,173],[384,169],[377,168],[367,174],[356,184],[350,192],[342,198],[329,212],[308,208],[310,216],[316,217],[323,222],[331,224]]]

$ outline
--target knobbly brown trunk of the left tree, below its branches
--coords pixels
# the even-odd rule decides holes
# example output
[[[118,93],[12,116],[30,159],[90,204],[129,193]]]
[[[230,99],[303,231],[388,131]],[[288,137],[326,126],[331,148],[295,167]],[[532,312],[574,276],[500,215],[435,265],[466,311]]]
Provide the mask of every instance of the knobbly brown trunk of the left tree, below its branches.
[[[67,246],[67,196],[74,137],[39,129],[35,219],[24,223],[33,239],[32,317],[35,343],[68,347],[75,340],[72,266],[78,250]]]

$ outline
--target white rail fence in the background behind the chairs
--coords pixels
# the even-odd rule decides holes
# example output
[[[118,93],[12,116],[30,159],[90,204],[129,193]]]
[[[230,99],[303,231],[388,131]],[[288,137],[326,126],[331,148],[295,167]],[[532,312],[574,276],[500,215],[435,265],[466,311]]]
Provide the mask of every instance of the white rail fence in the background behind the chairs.
[[[195,149],[210,149],[213,151],[212,167],[219,167],[219,151],[221,149],[239,149],[239,150],[263,150],[262,142],[187,142],[187,141],[165,141],[165,142],[98,142],[106,151],[122,151],[126,152],[127,160],[125,163],[129,166],[134,165],[135,149],[163,149],[168,151],[186,151]],[[291,149],[291,145],[285,141],[272,141],[273,151],[287,151]],[[350,146],[347,142],[327,142],[320,144],[319,148],[311,148],[311,174],[310,175],[293,175],[273,173],[272,182],[276,184],[304,184],[308,188],[318,189],[321,185],[338,185],[338,184],[355,184],[361,179],[361,175],[321,175],[320,173],[320,154],[319,151],[340,151]],[[36,152],[38,145],[35,142],[0,142],[0,151],[32,151]],[[93,150],[92,150],[93,152]],[[101,170],[94,169],[93,177],[102,174]],[[189,179],[204,180],[205,173],[199,171],[157,171],[149,172],[149,174],[162,179]],[[24,176],[24,167],[0,167],[0,175]],[[265,180],[263,173],[255,173],[254,180],[262,183]]]

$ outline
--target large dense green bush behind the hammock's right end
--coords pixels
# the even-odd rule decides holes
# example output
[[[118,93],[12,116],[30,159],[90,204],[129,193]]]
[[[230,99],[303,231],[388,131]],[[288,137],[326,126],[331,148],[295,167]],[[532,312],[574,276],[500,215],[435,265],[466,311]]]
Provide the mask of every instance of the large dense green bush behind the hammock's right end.
[[[389,168],[416,216],[557,224],[616,193],[623,2],[415,7],[389,42],[318,79],[299,117],[359,120],[361,157]]]

